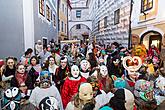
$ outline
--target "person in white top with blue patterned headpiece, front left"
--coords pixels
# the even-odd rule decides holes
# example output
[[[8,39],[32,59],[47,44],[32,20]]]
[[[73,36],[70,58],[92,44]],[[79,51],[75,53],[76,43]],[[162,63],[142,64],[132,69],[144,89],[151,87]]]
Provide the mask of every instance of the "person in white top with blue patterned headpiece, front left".
[[[40,84],[39,87],[35,87],[29,98],[29,102],[32,103],[37,109],[39,105],[42,105],[44,98],[54,97],[58,101],[60,110],[63,110],[62,100],[58,89],[51,84],[51,77],[49,71],[40,72]],[[40,104],[41,103],[41,104]]]

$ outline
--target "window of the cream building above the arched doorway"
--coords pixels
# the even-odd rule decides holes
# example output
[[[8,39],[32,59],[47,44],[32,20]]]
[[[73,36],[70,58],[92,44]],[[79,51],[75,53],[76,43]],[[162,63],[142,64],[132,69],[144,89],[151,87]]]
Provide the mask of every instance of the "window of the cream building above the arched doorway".
[[[153,0],[141,0],[141,12],[148,11],[153,7]]]

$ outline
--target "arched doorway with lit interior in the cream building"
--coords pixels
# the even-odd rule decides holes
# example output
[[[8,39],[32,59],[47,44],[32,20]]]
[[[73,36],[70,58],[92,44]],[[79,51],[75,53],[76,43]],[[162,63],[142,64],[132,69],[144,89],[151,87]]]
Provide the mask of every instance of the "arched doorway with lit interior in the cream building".
[[[162,35],[157,31],[148,31],[141,36],[140,42],[143,43],[147,49],[153,44],[161,50]]]

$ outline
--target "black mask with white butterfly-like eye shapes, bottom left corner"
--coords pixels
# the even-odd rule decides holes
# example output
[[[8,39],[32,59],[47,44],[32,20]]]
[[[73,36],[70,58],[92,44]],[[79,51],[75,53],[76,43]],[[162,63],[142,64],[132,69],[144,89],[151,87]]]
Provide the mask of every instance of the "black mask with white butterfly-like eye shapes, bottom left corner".
[[[18,88],[9,88],[4,93],[3,107],[7,110],[19,110],[21,101],[21,93]]]

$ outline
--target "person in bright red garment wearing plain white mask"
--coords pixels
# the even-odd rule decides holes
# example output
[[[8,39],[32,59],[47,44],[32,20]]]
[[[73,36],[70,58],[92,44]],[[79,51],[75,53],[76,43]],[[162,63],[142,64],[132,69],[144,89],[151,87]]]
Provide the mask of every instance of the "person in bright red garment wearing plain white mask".
[[[86,79],[80,76],[80,71],[77,65],[71,67],[71,74],[66,78],[62,87],[61,97],[64,108],[71,101],[71,98],[78,92],[78,86],[86,82]]]

